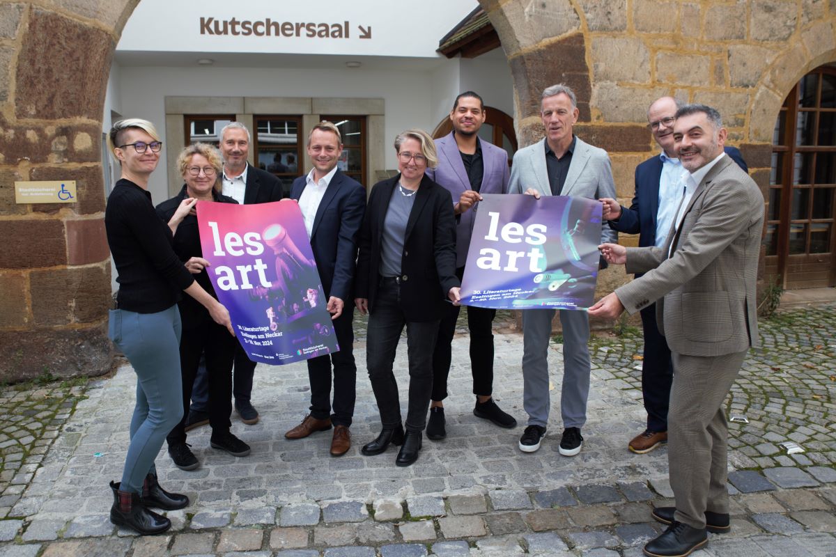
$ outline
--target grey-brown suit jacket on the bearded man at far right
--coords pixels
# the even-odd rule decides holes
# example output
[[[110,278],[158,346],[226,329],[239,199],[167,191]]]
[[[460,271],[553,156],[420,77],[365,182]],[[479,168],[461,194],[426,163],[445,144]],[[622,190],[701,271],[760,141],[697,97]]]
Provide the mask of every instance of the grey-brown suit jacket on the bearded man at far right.
[[[757,261],[763,196],[728,156],[697,186],[665,246],[627,249],[627,272],[645,272],[615,294],[630,313],[654,301],[670,350],[721,356],[757,346]],[[670,246],[674,251],[670,258]]]

